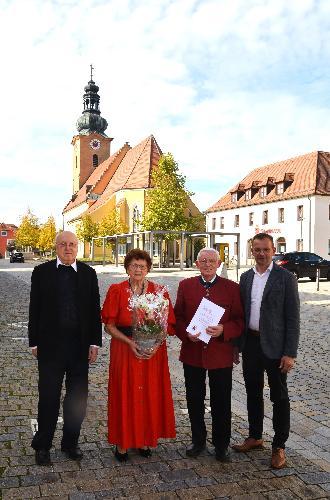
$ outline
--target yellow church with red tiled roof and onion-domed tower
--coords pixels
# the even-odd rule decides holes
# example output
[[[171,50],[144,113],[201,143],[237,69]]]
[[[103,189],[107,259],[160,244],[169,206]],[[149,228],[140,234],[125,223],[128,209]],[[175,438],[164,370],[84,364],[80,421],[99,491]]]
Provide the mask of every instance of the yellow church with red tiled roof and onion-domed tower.
[[[112,138],[105,133],[108,123],[101,116],[99,87],[91,79],[85,87],[83,112],[77,121],[78,134],[72,139],[72,197],[63,210],[63,227],[76,232],[83,215],[100,222],[117,210],[128,232],[138,231],[151,176],[162,151],[150,135],[131,147],[125,142],[112,153]],[[192,215],[199,210],[188,200]],[[79,256],[85,252],[79,246]],[[125,249],[123,249],[123,253]]]

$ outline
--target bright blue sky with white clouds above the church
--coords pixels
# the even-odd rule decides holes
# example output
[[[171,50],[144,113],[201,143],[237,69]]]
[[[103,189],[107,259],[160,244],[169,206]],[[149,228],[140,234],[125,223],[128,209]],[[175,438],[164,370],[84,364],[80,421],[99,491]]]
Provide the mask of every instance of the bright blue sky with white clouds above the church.
[[[0,0],[0,222],[71,197],[90,79],[111,152],[153,134],[205,210],[250,170],[330,151],[328,0]]]

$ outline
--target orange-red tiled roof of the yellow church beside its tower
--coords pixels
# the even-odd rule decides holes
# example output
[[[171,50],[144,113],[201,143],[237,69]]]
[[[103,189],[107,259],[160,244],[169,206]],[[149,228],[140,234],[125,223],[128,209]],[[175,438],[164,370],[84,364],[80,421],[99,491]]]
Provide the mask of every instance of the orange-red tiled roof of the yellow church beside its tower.
[[[107,203],[117,191],[149,188],[152,169],[157,165],[161,154],[162,151],[153,135],[128,151],[100,198],[89,207],[87,213],[92,213]]]

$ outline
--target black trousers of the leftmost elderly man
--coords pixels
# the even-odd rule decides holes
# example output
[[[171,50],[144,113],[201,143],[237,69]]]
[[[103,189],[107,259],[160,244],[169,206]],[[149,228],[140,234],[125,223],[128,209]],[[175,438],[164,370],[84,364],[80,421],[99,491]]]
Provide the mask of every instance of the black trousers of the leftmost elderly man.
[[[65,348],[64,348],[65,349]],[[39,360],[38,431],[32,440],[35,450],[49,450],[60,409],[63,379],[63,437],[61,445],[71,448],[78,443],[81,424],[85,418],[88,395],[88,361],[70,352],[57,360]]]

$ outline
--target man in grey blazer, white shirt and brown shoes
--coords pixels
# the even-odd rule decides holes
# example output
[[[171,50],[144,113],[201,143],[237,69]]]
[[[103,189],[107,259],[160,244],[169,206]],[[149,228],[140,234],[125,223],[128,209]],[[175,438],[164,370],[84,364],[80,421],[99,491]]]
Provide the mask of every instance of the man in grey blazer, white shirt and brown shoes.
[[[264,417],[264,372],[268,377],[273,403],[271,465],[286,465],[285,442],[290,430],[290,402],[287,373],[293,368],[299,341],[299,295],[293,274],[272,262],[273,238],[266,233],[252,239],[256,265],[242,274],[241,297],[245,331],[240,339],[243,376],[247,394],[249,436],[234,450],[246,452],[262,448]]]

